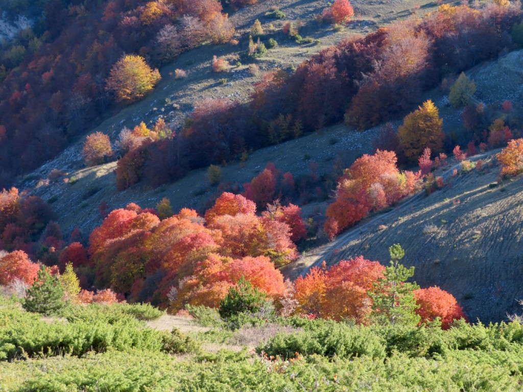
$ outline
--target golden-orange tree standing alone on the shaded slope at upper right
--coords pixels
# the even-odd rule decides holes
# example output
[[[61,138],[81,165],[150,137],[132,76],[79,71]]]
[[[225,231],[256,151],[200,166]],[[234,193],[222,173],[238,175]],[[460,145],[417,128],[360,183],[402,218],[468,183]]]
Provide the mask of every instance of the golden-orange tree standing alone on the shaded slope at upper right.
[[[440,151],[443,147],[443,120],[434,102],[427,100],[414,112],[408,114],[398,128],[400,145],[405,156],[413,162],[428,147]]]

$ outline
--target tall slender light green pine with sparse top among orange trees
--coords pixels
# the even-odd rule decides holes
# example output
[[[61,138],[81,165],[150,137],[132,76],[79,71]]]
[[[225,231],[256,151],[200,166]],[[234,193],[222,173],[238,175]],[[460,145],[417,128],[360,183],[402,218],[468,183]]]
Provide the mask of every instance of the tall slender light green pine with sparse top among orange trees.
[[[390,266],[383,273],[384,278],[374,284],[374,291],[369,293],[373,299],[373,315],[380,324],[410,325],[419,324],[419,315],[415,310],[419,308],[414,297],[414,290],[419,286],[408,283],[414,275],[414,267],[405,268],[400,260],[405,251],[399,244],[389,248]]]

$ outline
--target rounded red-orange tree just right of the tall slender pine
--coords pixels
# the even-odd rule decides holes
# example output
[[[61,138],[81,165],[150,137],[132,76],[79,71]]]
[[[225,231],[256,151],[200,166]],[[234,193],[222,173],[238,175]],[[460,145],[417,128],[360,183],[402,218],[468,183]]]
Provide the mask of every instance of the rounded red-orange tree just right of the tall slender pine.
[[[436,317],[439,317],[441,328],[449,329],[452,320],[467,319],[456,298],[437,286],[416,290],[414,296],[419,305],[416,313],[422,318],[422,322],[433,321]]]

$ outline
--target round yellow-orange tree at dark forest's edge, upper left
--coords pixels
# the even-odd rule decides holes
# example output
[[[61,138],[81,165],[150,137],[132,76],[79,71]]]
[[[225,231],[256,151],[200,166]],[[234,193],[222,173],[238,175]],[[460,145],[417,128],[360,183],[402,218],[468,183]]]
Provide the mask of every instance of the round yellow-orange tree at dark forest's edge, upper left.
[[[143,57],[125,55],[112,66],[106,89],[114,91],[118,101],[129,103],[152,91],[160,79],[160,72],[152,70]]]

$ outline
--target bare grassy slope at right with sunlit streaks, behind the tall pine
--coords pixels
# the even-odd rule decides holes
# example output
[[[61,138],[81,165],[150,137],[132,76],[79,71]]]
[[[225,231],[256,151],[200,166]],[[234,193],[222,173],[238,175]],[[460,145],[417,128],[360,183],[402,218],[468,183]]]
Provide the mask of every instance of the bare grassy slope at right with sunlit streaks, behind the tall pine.
[[[515,300],[523,298],[523,177],[495,185],[497,162],[493,155],[483,161],[479,172],[450,177],[442,190],[419,193],[369,217],[303,255],[287,273],[305,274],[323,260],[330,266],[358,255],[386,263],[389,246],[400,244],[417,283],[452,293],[471,320],[501,321],[520,313]]]

